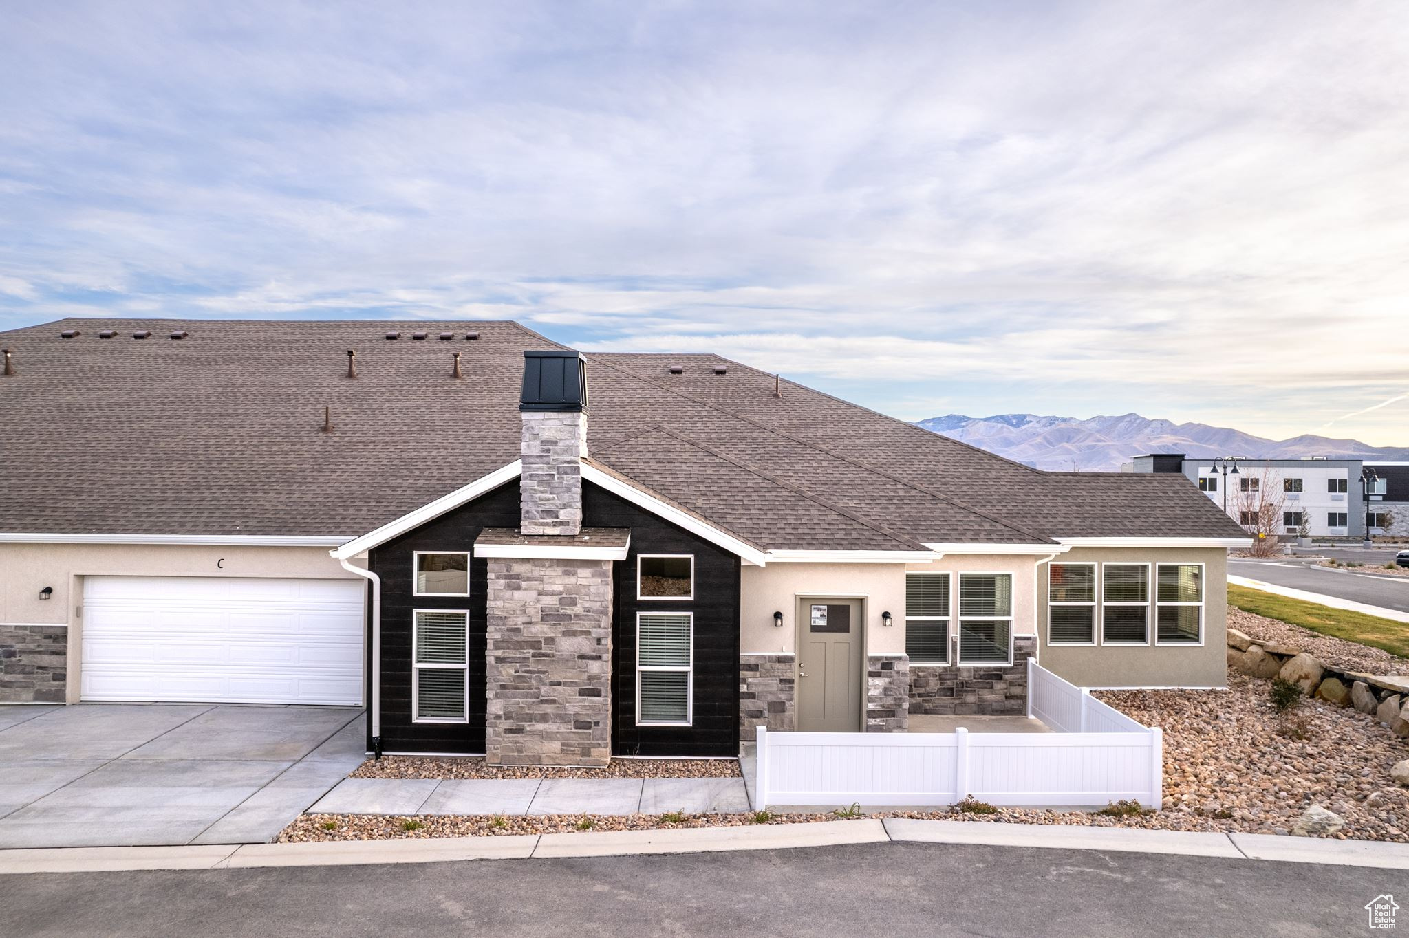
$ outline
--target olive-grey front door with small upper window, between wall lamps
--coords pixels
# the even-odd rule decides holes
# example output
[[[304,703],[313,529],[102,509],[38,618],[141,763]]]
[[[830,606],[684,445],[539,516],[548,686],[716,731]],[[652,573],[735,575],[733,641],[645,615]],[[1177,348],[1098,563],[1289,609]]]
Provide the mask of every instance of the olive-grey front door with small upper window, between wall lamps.
[[[861,600],[803,597],[797,608],[797,730],[861,730]]]

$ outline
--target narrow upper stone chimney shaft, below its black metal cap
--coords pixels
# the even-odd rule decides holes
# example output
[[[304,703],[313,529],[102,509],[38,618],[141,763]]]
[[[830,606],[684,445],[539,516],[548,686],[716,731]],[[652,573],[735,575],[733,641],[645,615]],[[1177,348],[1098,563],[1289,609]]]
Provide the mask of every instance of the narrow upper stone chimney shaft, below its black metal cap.
[[[578,534],[582,530],[582,456],[588,455],[588,415],[582,411],[530,410],[520,415],[521,530],[524,534]]]

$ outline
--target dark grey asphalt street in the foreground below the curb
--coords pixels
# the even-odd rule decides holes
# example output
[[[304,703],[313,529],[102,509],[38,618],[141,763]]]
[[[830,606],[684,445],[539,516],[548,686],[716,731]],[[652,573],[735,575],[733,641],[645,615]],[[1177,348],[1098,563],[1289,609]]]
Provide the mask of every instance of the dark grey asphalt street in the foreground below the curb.
[[[1309,938],[1361,934],[1365,903],[1382,893],[1409,896],[1409,872],[868,844],[572,861],[3,876],[0,934]]]

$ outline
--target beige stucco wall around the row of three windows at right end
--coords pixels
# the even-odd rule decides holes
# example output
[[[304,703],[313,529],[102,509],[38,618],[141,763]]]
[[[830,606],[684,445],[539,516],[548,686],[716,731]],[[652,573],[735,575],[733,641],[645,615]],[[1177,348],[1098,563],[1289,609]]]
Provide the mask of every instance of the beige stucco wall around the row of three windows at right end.
[[[1157,645],[1155,611],[1150,608],[1148,645],[1102,645],[1096,607],[1095,646],[1047,642],[1047,568],[1038,589],[1038,661],[1067,680],[1089,687],[1222,687],[1227,683],[1227,551],[1223,548],[1075,548],[1055,563],[1203,563],[1203,644]],[[1154,592],[1151,566],[1151,593]],[[1099,583],[1099,579],[1098,579]],[[1151,597],[1153,599],[1153,597]]]

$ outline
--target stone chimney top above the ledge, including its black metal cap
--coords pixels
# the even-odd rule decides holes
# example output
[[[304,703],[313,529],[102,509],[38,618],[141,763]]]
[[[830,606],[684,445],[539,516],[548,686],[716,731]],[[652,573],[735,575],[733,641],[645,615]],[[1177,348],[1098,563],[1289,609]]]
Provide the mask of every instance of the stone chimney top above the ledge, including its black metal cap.
[[[576,535],[582,530],[582,458],[588,455],[588,376],[581,352],[524,352],[524,534]]]

